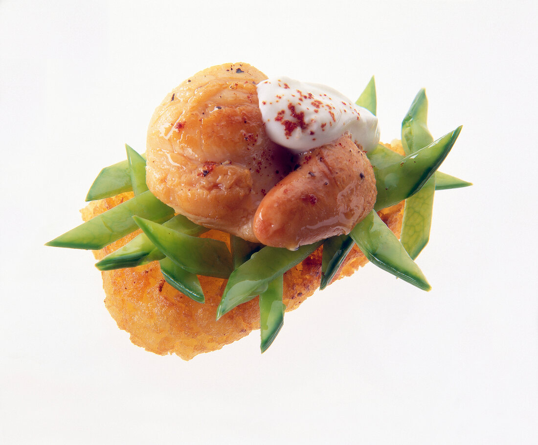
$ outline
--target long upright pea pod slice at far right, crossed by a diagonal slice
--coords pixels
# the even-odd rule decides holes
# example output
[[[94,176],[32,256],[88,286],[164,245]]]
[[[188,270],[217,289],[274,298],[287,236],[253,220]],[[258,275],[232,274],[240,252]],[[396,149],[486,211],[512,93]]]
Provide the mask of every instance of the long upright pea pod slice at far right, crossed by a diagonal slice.
[[[428,130],[428,99],[421,89],[402,122],[402,146],[406,154],[415,153],[434,140]],[[428,244],[435,193],[435,175],[405,202],[400,241],[415,259]]]

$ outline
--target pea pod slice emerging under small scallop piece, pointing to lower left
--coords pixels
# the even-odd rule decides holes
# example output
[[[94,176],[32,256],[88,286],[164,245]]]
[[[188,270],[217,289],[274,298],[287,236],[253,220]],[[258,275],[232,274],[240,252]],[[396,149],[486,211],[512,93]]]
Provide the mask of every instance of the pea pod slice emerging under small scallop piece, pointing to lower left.
[[[302,262],[320,245],[321,241],[293,251],[265,246],[254,253],[231,273],[217,308],[217,320],[236,306],[254,298],[259,294],[259,289],[264,292],[270,281]]]

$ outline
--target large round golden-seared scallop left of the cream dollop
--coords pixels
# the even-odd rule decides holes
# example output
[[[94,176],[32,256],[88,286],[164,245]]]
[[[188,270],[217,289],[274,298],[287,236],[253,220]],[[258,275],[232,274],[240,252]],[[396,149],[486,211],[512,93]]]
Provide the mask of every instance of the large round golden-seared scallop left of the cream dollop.
[[[266,135],[246,63],[218,65],[181,83],[155,110],[147,134],[147,185],[178,213],[249,241],[265,193],[293,166]]]

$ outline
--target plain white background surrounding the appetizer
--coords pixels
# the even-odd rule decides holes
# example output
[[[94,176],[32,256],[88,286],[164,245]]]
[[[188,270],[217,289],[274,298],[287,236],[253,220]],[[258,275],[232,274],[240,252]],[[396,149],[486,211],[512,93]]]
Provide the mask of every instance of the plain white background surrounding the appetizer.
[[[534,2],[213,3],[0,1],[0,442],[537,443]],[[475,185],[436,194],[430,293],[368,265],[264,355],[183,362],[116,327],[91,253],[43,244],[168,90],[234,61],[353,99],[376,75],[385,141],[426,87]]]

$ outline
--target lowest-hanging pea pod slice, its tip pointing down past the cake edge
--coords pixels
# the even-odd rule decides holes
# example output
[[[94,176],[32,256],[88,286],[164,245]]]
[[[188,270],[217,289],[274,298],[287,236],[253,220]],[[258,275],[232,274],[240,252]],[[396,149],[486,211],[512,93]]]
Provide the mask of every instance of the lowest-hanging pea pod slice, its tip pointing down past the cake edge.
[[[271,281],[265,292],[260,294],[260,349],[265,352],[277,337],[284,324],[286,305],[282,303],[284,276],[279,275]]]

